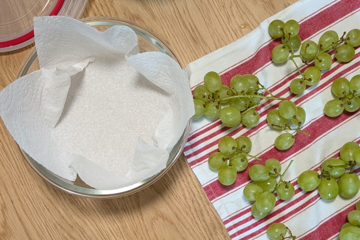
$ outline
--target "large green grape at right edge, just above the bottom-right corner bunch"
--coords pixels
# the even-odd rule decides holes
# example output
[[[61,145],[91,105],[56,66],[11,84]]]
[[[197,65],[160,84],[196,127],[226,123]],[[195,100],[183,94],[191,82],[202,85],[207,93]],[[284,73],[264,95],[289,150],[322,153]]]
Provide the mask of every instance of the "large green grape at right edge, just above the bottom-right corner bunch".
[[[344,198],[352,198],[359,192],[360,180],[356,173],[347,172],[341,176],[338,185],[341,196]]]

